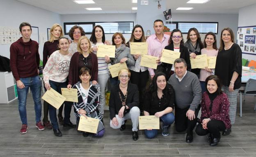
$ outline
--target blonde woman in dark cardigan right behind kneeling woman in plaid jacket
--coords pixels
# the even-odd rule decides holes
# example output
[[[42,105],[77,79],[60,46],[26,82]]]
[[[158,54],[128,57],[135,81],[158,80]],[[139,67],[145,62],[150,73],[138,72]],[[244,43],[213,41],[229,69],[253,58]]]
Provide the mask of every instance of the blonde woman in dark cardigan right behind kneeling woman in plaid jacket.
[[[69,85],[71,88],[79,81],[79,71],[85,66],[91,71],[92,84],[97,84],[98,80],[98,60],[94,53],[91,53],[91,42],[86,36],[78,40],[78,52],[74,53],[69,68]]]

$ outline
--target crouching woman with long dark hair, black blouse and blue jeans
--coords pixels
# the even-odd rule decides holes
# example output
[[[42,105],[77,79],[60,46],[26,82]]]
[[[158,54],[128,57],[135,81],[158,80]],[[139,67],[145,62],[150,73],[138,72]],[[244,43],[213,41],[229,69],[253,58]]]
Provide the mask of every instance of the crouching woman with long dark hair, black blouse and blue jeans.
[[[167,84],[164,73],[156,73],[151,81],[144,99],[144,115],[155,115],[162,121],[162,135],[168,136],[168,127],[174,122],[175,95],[174,89]],[[144,130],[147,138],[154,138],[158,133],[156,129]]]

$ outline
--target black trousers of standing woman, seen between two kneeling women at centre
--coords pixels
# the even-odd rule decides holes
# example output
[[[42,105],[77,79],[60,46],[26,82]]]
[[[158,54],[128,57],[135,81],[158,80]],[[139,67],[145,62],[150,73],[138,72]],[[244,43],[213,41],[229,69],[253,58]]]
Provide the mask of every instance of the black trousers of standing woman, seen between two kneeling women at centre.
[[[144,90],[146,88],[146,83],[149,80],[149,71],[139,71],[135,72],[130,70],[131,77],[130,77],[130,82],[133,84],[136,84],[138,89],[139,89],[139,109],[142,111],[142,104],[143,104],[143,95],[144,95]]]

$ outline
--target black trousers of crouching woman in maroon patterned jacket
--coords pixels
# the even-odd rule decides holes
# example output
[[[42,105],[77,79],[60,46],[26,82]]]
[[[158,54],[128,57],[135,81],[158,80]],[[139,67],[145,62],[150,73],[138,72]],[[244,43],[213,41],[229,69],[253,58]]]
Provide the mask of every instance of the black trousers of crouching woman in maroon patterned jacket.
[[[225,124],[221,120],[210,120],[207,123],[208,129],[203,129],[202,124],[198,124],[196,128],[196,133],[199,136],[207,135],[208,133],[213,134],[213,138],[219,138],[219,131],[223,131],[226,129]]]

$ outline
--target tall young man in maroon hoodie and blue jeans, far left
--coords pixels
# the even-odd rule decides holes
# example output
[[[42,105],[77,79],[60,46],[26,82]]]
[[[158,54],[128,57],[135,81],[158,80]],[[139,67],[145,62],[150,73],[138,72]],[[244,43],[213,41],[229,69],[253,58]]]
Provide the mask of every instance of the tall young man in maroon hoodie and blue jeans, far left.
[[[27,92],[30,88],[34,100],[36,112],[36,127],[44,130],[41,124],[41,80],[39,78],[38,43],[30,39],[32,33],[31,25],[27,22],[20,24],[22,37],[11,44],[10,66],[16,80],[18,93],[18,110],[21,117],[21,134],[27,133]]]

